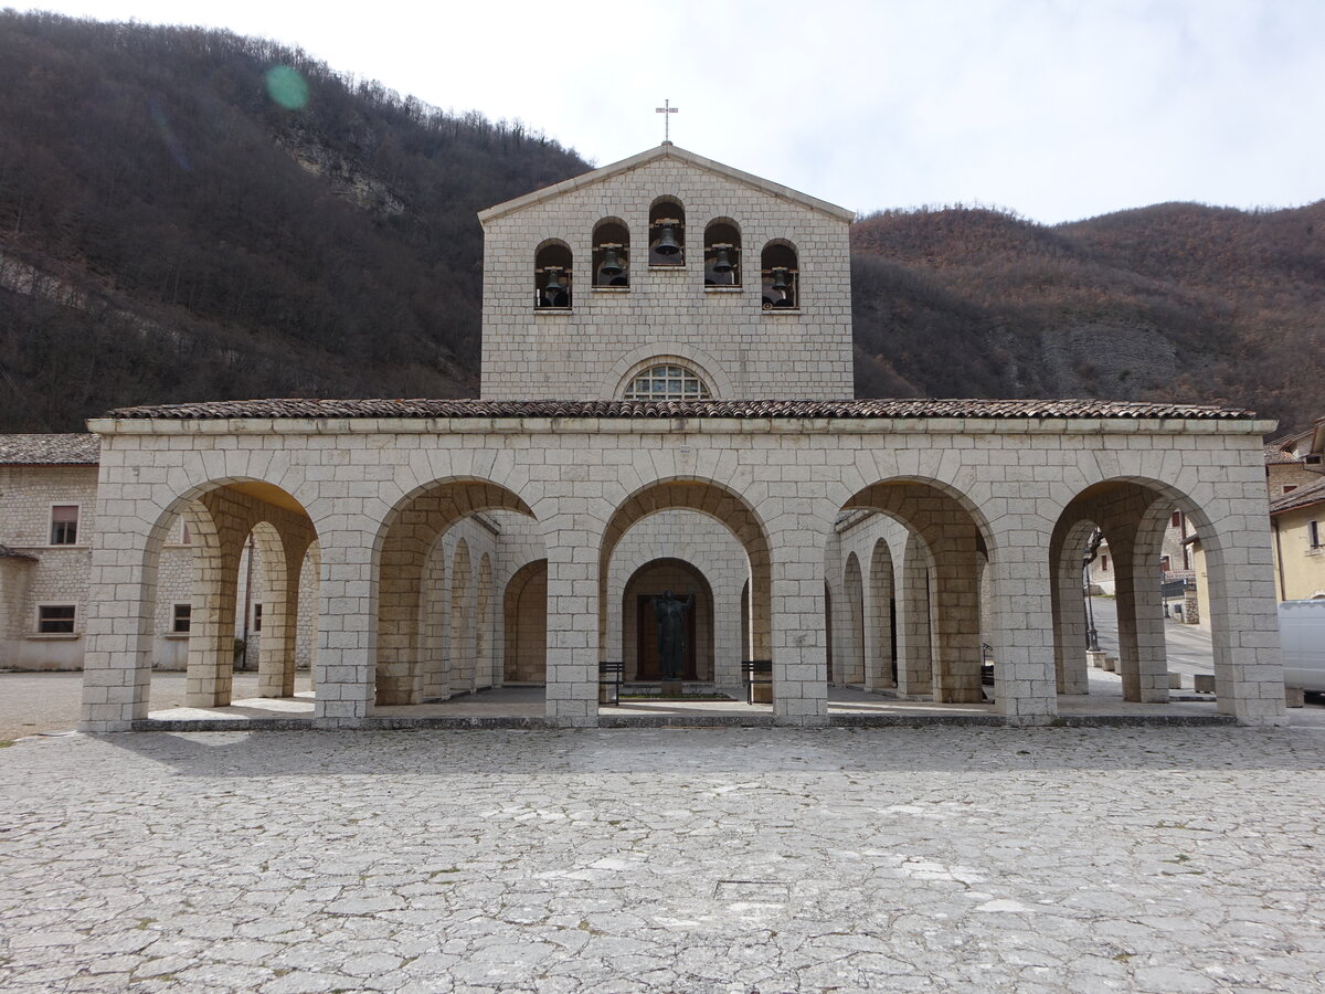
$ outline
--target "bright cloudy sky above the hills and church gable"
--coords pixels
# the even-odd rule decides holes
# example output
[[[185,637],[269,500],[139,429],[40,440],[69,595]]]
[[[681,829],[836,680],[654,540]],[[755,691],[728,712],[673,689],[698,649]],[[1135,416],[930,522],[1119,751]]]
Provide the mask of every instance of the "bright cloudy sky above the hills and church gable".
[[[603,166],[662,139],[860,212],[1325,196],[1325,0],[58,0],[290,45]]]

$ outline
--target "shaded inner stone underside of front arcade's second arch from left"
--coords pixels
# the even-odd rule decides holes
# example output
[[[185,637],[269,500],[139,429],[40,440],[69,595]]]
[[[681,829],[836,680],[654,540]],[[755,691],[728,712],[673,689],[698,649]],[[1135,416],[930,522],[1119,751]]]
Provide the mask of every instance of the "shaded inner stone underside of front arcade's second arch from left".
[[[501,484],[480,477],[445,477],[404,494],[378,527],[372,542],[372,575],[378,578],[372,665],[376,704],[423,700],[420,618],[428,555],[456,522],[485,510],[515,512],[537,521],[523,498]]]

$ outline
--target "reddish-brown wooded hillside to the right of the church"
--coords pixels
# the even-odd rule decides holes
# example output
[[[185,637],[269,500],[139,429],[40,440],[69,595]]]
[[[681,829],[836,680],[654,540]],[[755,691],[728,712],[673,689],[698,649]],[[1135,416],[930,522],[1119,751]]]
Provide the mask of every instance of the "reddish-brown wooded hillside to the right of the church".
[[[1284,428],[1325,415],[1325,201],[1052,228],[882,212],[852,241],[859,394],[1231,403]]]

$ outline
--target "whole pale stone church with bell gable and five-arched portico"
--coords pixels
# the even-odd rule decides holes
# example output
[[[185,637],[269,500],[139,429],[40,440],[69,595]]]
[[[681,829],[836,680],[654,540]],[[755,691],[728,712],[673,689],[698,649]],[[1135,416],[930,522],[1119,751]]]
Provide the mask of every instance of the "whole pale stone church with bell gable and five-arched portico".
[[[991,655],[998,710],[1043,724],[1085,690],[1080,550],[1097,525],[1125,694],[1161,702],[1150,579],[1175,506],[1211,563],[1219,708],[1283,724],[1271,425],[1182,404],[855,400],[851,217],[664,144],[480,215],[480,399],[93,420],[82,726],[146,717],[179,517],[197,706],[231,700],[252,535],[262,692],[290,693],[315,604],[325,728],[504,684],[546,687],[553,724],[595,725],[603,661],[652,676],[664,586],[696,594],[688,677],[739,693],[742,663],[766,661],[779,722],[827,722],[831,684],[977,702]]]

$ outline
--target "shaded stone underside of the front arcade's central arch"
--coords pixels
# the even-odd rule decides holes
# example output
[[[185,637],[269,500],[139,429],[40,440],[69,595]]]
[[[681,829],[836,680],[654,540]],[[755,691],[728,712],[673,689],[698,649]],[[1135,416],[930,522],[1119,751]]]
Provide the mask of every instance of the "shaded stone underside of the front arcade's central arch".
[[[751,655],[772,657],[772,557],[768,531],[758,513],[730,488],[700,477],[655,480],[629,494],[603,529],[599,547],[599,645],[607,644],[608,569],[621,537],[637,521],[662,510],[688,509],[725,525],[750,559]]]

